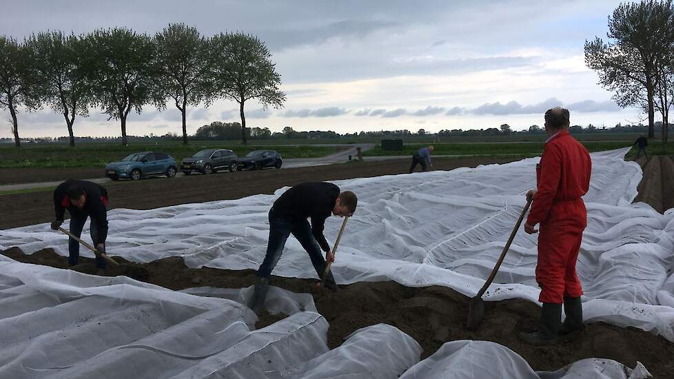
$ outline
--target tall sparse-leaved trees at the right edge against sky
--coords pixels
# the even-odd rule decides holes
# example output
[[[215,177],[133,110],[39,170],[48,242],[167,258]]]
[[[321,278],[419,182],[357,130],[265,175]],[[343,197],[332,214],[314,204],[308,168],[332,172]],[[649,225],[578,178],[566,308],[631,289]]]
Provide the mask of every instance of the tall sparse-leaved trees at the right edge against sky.
[[[621,3],[609,16],[609,41],[585,42],[585,63],[600,84],[614,92],[621,107],[637,106],[649,115],[655,136],[655,112],[668,124],[674,101],[674,7],[672,0]],[[668,127],[662,128],[666,144]]]

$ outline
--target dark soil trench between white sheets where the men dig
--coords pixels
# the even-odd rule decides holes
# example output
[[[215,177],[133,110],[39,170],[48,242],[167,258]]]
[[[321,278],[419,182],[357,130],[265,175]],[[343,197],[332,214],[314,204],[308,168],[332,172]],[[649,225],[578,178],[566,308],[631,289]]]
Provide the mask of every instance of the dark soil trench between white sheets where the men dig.
[[[65,268],[66,258],[52,249],[24,255],[20,249],[2,252],[15,260]],[[140,274],[143,281],[170,289],[198,286],[248,287],[254,283],[253,270],[231,271],[204,267],[190,269],[182,258],[171,257],[146,264],[125,263],[110,267],[106,275]],[[131,268],[128,268],[129,266]],[[125,268],[126,267],[126,268]],[[94,261],[81,258],[76,271],[94,274]],[[294,292],[311,293],[316,307],[329,322],[328,344],[341,345],[356,329],[385,322],[412,336],[423,347],[422,358],[433,354],[443,343],[471,339],[498,342],[517,352],[536,370],[556,370],[584,358],[610,358],[634,367],[642,362],[655,378],[674,377],[674,344],[660,336],[635,328],[620,328],[596,322],[573,340],[549,347],[531,347],[517,338],[519,331],[538,329],[540,308],[524,300],[486,302],[484,320],[478,331],[467,331],[469,298],[445,287],[408,288],[394,282],[356,283],[337,293],[317,291],[316,281],[272,277],[272,285]],[[283,318],[262,312],[256,327]]]

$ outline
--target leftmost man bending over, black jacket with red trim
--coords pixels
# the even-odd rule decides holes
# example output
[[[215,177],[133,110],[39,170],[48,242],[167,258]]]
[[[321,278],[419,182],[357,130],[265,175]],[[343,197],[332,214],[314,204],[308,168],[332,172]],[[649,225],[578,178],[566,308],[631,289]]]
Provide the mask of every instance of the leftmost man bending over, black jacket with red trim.
[[[105,253],[105,238],[108,237],[108,191],[90,181],[69,179],[54,189],[54,209],[56,221],[52,229],[58,230],[63,224],[65,209],[70,213],[70,233],[78,238],[82,235],[87,217],[91,219],[89,232],[96,249]],[[68,240],[68,265],[74,266],[79,259],[79,243],[73,238]],[[96,267],[99,274],[105,270],[105,258],[96,254]]]

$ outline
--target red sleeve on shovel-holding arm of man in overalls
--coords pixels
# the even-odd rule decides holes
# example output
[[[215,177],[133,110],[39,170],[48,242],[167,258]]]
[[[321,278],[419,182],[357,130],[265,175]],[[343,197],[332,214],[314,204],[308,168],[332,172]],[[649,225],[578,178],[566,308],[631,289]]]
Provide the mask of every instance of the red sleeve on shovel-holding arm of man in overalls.
[[[540,179],[538,191],[533,196],[531,212],[527,217],[527,224],[533,226],[548,218],[552,203],[557,196],[562,177],[562,152],[559,147],[549,144],[543,150],[540,158]]]

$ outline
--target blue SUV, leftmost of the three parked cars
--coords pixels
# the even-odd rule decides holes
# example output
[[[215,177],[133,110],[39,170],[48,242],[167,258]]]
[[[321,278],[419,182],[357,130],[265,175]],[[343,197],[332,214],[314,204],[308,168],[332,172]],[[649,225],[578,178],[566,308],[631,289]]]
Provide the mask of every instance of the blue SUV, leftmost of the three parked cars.
[[[175,158],[159,152],[139,152],[131,154],[119,162],[105,166],[105,176],[113,181],[131,179],[137,181],[143,176],[166,175],[176,176],[178,164]]]

